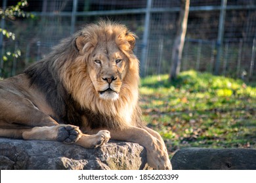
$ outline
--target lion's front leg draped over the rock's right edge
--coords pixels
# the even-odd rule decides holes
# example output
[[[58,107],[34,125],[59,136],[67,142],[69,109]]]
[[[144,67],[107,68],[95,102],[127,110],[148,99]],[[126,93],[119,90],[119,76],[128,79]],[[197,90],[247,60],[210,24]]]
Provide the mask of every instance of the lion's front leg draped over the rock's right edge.
[[[139,127],[127,127],[127,129],[121,131],[112,130],[110,133],[112,139],[135,142],[144,146],[146,148],[148,165],[153,169],[172,169],[165,144],[156,131],[152,129],[147,131]]]

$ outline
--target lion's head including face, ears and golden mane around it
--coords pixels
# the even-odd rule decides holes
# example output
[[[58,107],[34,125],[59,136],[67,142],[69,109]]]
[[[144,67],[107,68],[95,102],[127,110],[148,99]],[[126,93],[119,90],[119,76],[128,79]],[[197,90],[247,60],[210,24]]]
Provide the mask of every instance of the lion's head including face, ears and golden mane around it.
[[[68,55],[60,75],[81,108],[132,121],[139,98],[135,38],[124,25],[111,22],[89,24],[74,35],[74,56]]]

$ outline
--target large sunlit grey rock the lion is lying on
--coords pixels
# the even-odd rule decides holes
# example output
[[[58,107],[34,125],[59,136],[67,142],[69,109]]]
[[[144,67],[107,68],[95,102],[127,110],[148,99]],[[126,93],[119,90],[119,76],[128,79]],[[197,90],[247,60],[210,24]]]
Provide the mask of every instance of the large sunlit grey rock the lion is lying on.
[[[0,138],[0,169],[148,169],[146,150],[110,141],[95,149],[54,141]]]

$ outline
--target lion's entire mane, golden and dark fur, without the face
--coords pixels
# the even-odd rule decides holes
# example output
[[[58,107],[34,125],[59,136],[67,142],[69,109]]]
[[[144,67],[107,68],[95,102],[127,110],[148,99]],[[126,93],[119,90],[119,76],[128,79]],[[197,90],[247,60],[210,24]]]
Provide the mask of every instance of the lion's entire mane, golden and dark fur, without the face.
[[[99,41],[115,41],[129,58],[129,69],[116,101],[100,99],[87,73],[87,59]],[[101,21],[64,39],[49,56],[28,67],[25,73],[31,84],[45,93],[56,114],[52,117],[60,123],[91,129],[140,126],[139,60],[133,54],[134,46],[135,35],[124,25]]]

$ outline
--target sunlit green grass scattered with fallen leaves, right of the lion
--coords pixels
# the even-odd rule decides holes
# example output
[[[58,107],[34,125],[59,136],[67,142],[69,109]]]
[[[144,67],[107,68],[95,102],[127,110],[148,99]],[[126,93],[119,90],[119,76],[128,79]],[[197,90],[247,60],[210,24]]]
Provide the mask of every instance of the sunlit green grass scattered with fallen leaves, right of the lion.
[[[256,148],[256,88],[242,80],[187,71],[141,80],[140,106],[170,156],[185,147]]]

